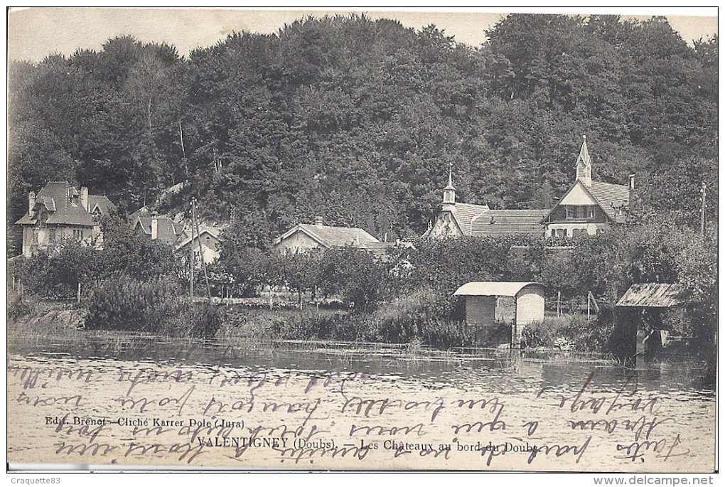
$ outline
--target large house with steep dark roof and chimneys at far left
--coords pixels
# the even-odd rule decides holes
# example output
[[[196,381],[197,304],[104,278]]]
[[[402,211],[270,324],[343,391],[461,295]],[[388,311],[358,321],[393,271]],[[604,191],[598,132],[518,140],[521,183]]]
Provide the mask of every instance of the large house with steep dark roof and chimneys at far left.
[[[115,211],[106,196],[89,195],[67,181],[51,181],[36,194],[28,193],[28,212],[16,225],[22,226],[22,255],[32,257],[67,239],[100,245],[100,217]]]

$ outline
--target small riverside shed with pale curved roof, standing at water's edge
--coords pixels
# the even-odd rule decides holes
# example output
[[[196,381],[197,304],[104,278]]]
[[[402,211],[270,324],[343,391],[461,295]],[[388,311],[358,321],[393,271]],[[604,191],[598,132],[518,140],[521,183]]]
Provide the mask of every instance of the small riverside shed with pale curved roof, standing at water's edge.
[[[544,285],[541,283],[466,283],[455,291],[454,296],[465,296],[465,321],[479,326],[495,324],[497,297],[513,297],[513,345],[521,344],[521,333],[526,325],[544,320]]]

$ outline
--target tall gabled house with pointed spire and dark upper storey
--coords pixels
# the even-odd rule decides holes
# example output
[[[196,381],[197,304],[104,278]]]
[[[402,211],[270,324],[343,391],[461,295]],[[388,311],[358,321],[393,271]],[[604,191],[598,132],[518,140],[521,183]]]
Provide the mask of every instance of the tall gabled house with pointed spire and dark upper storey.
[[[592,180],[592,158],[583,137],[576,158],[576,181],[542,219],[547,237],[598,235],[629,222],[634,175],[629,186]]]

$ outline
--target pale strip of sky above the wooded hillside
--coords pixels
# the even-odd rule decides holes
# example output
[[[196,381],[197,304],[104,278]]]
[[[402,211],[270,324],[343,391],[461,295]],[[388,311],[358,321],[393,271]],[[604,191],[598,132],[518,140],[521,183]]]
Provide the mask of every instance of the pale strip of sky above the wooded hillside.
[[[479,46],[486,40],[485,30],[509,12],[529,12],[531,9],[471,9],[460,7],[435,12],[420,9],[395,9],[383,12],[378,7],[344,9],[144,9],[144,8],[48,8],[10,9],[7,14],[8,59],[40,61],[49,54],[73,54],[77,49],[101,49],[107,39],[130,35],[143,42],[173,44],[179,54],[186,56],[196,47],[212,46],[229,33],[251,31],[275,33],[285,23],[307,14],[321,17],[325,14],[365,12],[369,17],[395,18],[406,27],[421,29],[435,24],[458,42]],[[685,41],[707,38],[718,32],[717,8],[702,9],[547,9],[545,13],[616,13],[623,17],[649,18],[664,14],[672,28]]]

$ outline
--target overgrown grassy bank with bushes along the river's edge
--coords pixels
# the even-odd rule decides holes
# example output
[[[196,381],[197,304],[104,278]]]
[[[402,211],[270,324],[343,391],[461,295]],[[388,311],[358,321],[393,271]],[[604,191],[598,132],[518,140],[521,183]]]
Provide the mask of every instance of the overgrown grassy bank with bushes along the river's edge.
[[[460,309],[434,291],[417,291],[373,312],[356,313],[324,306],[270,309],[254,303],[191,306],[160,292],[165,290],[163,284],[154,286],[100,286],[94,301],[81,304],[32,297],[21,300],[11,291],[8,336],[75,341],[97,331],[110,333],[109,340],[120,343],[120,334],[130,332],[159,338],[215,338],[247,348],[298,340],[397,344],[411,351],[484,349],[510,343],[510,325],[466,325]],[[608,333],[610,328],[597,322],[569,317],[534,323],[523,338],[530,347],[602,352]]]

